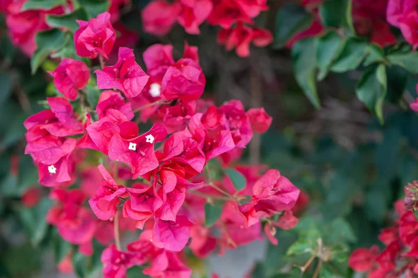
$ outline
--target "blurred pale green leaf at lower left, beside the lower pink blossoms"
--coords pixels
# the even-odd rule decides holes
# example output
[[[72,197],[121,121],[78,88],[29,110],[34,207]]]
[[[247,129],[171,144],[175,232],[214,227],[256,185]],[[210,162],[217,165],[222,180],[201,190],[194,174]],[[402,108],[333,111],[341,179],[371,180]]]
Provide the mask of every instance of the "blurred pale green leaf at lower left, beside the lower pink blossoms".
[[[20,219],[34,246],[38,245],[47,233],[48,223],[45,218],[52,203],[52,200],[43,198],[35,207],[20,210]]]

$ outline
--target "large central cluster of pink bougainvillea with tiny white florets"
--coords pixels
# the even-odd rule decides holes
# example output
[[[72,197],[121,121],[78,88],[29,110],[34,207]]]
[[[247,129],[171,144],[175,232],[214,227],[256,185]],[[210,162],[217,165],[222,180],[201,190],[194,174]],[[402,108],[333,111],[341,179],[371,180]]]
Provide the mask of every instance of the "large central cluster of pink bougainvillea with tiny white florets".
[[[102,253],[108,278],[125,277],[127,268],[144,264],[151,277],[189,277],[187,245],[199,257],[224,252],[261,238],[263,223],[277,244],[276,228],[293,228],[293,209],[307,198],[295,206],[300,190],[279,171],[236,163],[253,132],[270,127],[264,109],[245,111],[239,100],[219,107],[201,100],[206,78],[196,47],[186,44],[175,61],[171,45],[153,45],[144,52],[146,72],[132,49],[120,47],[118,61],[105,66],[116,38],[111,15],[78,23],[77,54],[100,58],[102,68],[94,73],[98,88],[107,91],[88,107],[83,88],[90,70],[82,61],[63,59],[49,72],[63,97],[47,98],[49,109],[24,121],[25,153],[38,167],[39,183],[53,187],[56,205],[47,221],[86,255],[93,253],[93,238],[103,245],[115,240]],[[148,120],[152,128],[140,133],[138,123]],[[214,158],[245,176],[242,190],[226,175],[210,178],[208,161]],[[214,201],[222,201],[222,213],[208,227],[205,204]],[[123,251],[118,231],[135,228],[143,230],[139,240]],[[65,258],[61,269],[68,270],[70,254]]]

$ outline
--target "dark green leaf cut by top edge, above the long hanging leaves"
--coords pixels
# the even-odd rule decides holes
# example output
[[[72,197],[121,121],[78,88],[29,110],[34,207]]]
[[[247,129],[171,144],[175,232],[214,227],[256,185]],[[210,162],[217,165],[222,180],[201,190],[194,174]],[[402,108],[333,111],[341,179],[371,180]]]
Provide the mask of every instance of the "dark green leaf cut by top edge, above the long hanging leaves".
[[[325,26],[344,28],[355,33],[351,18],[351,0],[327,0],[319,7],[319,14]]]

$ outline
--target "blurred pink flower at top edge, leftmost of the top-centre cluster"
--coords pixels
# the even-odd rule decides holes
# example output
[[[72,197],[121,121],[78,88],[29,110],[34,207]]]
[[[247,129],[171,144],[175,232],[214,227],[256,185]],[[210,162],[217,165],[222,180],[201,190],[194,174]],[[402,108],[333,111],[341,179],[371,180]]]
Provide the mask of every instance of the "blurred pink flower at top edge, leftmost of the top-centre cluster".
[[[180,10],[181,5],[177,1],[173,3],[163,0],[150,1],[141,11],[144,31],[155,36],[167,35],[171,27],[176,23]]]

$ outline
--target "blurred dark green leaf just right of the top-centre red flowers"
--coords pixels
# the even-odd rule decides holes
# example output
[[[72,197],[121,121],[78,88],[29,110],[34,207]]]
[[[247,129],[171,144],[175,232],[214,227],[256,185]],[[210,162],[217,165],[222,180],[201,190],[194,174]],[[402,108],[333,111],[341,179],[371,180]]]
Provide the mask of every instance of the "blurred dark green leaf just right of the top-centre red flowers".
[[[300,5],[285,4],[276,15],[276,33],[274,45],[284,47],[295,33],[307,29],[312,22],[312,15]]]

